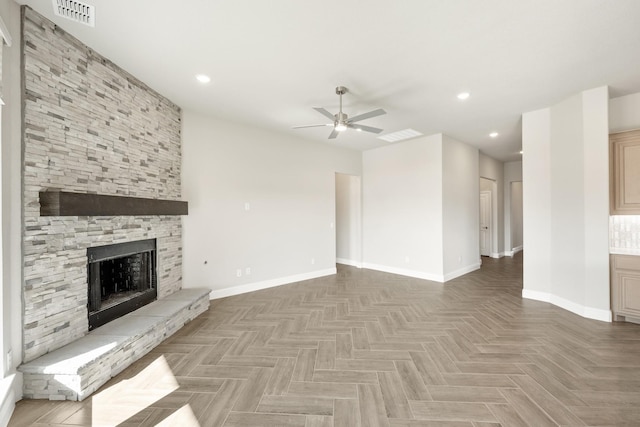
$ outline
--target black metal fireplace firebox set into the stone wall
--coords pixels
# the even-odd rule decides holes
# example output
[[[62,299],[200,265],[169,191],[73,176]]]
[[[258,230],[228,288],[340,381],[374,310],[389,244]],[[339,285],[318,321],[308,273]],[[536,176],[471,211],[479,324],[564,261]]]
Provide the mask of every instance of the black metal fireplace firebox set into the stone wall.
[[[87,249],[89,330],[157,298],[156,239]]]

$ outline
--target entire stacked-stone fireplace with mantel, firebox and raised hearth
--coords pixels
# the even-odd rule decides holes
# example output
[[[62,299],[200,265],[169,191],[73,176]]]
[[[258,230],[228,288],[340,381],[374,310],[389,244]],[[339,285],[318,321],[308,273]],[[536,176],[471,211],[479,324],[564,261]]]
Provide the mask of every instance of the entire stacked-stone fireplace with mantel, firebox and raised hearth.
[[[18,369],[25,398],[82,400],[209,305],[181,289],[181,113],[27,6],[21,40]]]

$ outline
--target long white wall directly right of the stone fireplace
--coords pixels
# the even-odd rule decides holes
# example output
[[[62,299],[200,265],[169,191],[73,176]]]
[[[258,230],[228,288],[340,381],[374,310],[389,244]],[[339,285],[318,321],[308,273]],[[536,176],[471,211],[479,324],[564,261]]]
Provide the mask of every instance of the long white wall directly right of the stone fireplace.
[[[360,152],[189,111],[182,135],[185,287],[215,298],[335,272],[335,173],[359,175]]]

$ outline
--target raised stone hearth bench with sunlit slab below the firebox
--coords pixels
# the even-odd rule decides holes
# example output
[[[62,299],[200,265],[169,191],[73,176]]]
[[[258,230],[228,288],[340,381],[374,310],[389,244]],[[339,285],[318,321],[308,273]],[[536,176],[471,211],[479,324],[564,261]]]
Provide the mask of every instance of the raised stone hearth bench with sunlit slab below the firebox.
[[[209,307],[209,289],[183,289],[20,366],[24,397],[83,400]]]

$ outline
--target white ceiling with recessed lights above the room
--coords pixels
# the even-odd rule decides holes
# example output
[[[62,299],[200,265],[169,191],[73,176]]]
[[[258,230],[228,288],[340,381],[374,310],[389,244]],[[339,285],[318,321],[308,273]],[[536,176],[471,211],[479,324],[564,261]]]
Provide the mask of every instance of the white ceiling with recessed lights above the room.
[[[638,0],[86,0],[95,28],[51,0],[18,3],[185,110],[358,150],[388,143],[291,127],[325,123],[312,107],[336,112],[342,85],[350,116],[387,111],[361,122],[383,134],[442,132],[518,160],[522,113],[602,85],[640,92]]]

